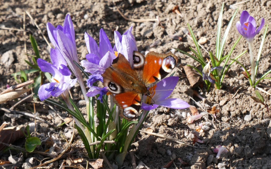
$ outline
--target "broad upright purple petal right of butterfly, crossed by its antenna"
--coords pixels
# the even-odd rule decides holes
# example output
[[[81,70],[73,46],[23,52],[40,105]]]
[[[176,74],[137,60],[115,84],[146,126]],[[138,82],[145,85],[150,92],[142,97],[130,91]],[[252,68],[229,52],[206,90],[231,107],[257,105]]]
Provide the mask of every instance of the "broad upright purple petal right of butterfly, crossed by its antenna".
[[[162,79],[159,83],[156,84],[155,94],[152,97],[155,101],[164,100],[169,97],[178,83],[179,77],[172,76]]]

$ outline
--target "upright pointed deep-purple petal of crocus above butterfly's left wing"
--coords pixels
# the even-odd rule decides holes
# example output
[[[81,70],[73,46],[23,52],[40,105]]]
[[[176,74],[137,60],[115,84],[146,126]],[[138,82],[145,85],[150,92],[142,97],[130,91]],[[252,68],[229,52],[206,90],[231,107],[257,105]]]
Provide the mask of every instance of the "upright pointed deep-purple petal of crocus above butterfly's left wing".
[[[100,30],[99,50],[101,57],[103,57],[108,51],[113,53],[111,43],[103,29]]]

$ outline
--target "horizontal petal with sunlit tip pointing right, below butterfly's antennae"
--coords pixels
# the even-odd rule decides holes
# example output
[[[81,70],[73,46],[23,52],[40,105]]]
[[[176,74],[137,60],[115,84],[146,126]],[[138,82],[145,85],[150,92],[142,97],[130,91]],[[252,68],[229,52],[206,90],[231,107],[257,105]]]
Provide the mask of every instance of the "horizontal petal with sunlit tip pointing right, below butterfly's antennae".
[[[189,104],[183,100],[178,98],[168,98],[159,102],[155,102],[155,104],[163,107],[173,108],[173,109],[184,109],[189,108]]]

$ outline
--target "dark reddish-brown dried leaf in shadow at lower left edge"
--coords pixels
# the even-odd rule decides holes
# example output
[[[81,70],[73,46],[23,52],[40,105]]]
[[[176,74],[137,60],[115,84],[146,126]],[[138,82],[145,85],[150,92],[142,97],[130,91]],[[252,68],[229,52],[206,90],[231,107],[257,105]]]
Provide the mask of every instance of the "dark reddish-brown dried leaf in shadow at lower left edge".
[[[8,129],[0,131],[0,143],[12,144],[21,137],[24,137],[21,130]],[[0,151],[2,151],[5,147],[6,146],[4,144],[0,144]]]

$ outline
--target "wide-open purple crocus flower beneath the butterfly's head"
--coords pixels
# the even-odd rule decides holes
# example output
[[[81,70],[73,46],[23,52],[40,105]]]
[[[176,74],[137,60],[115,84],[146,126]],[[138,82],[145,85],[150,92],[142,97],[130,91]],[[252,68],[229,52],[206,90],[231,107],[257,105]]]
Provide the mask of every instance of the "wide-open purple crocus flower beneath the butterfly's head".
[[[151,98],[144,96],[141,109],[152,110],[158,106],[173,108],[173,109],[184,109],[188,108],[189,104],[178,98],[167,98],[175,88],[179,77],[167,77],[161,80],[159,83],[151,88],[148,88],[151,94]],[[153,103],[154,104],[151,104]]]

